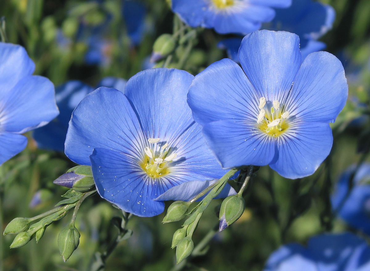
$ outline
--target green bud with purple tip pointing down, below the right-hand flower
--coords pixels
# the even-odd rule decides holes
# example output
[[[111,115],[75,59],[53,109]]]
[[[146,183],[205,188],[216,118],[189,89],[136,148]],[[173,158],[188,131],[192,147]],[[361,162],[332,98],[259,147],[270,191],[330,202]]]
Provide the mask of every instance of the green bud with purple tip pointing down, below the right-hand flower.
[[[239,194],[229,196],[222,201],[220,209],[220,225],[219,231],[225,230],[226,227],[230,226],[236,220],[242,216],[245,207],[245,202],[242,196]]]

